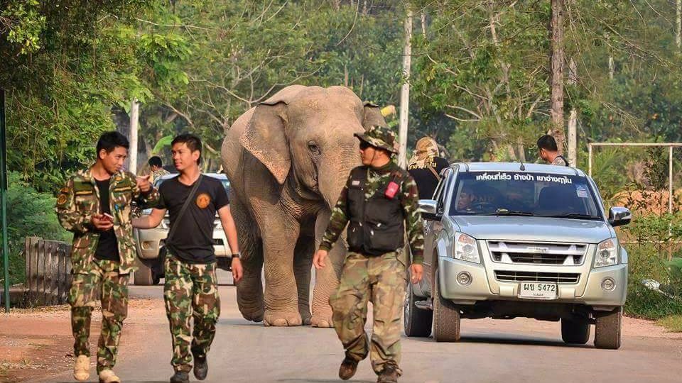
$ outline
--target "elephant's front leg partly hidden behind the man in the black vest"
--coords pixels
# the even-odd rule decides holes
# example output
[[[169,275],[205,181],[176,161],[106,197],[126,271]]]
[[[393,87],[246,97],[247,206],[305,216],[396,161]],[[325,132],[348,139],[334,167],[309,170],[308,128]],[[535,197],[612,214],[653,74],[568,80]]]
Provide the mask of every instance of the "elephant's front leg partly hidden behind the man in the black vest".
[[[330,213],[320,213],[315,223],[315,243],[319,244],[329,223]],[[332,306],[329,297],[339,285],[339,277],[346,255],[345,240],[341,238],[329,252],[327,267],[315,270],[315,288],[313,289],[313,327],[332,327]]]

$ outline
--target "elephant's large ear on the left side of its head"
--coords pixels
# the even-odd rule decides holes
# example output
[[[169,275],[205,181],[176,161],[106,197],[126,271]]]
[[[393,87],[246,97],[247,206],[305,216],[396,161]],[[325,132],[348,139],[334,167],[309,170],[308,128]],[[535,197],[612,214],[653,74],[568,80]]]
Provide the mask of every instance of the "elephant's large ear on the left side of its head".
[[[239,143],[265,165],[279,184],[283,184],[291,167],[286,138],[286,103],[264,102],[256,106],[251,121]]]

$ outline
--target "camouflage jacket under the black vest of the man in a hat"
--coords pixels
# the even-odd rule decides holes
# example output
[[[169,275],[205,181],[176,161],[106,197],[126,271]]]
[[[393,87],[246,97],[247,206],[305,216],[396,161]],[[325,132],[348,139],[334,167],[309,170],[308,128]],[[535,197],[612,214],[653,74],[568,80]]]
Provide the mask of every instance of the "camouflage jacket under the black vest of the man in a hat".
[[[404,173],[399,192],[400,203],[403,207],[407,238],[412,250],[412,262],[421,264],[421,262],[423,262],[424,252],[423,222],[421,221],[421,213],[419,213],[418,210],[419,199],[417,185],[414,182],[414,179],[394,162],[389,162],[388,165],[384,165],[377,169],[370,168],[367,174],[367,187],[365,189],[364,197],[365,199],[369,199],[369,197],[374,195],[380,187],[391,182],[395,172]],[[345,187],[343,187],[341,191],[339,200],[334,206],[334,209],[332,209],[332,216],[329,219],[327,231],[325,231],[325,235],[323,235],[322,243],[320,243],[320,249],[331,250],[348,223],[347,195],[350,182],[351,179],[349,177]]]

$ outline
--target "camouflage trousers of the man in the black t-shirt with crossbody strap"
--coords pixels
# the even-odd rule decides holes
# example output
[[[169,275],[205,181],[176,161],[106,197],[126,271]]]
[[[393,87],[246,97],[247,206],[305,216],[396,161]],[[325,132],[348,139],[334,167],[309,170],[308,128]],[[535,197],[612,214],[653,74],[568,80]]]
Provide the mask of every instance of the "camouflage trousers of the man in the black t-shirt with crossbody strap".
[[[173,337],[171,365],[175,371],[190,371],[192,355],[205,357],[208,353],[220,316],[215,262],[192,264],[168,252],[165,267],[163,300]],[[190,318],[194,318],[194,331]]]

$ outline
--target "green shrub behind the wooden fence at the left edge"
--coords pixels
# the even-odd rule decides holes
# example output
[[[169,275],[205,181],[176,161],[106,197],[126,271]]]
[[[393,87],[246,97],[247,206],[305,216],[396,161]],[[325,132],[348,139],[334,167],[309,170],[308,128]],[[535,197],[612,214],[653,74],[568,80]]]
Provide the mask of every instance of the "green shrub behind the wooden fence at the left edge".
[[[24,282],[26,258],[23,257],[25,238],[35,235],[45,239],[69,240],[70,234],[57,221],[55,197],[38,193],[23,182],[21,175],[10,172],[7,195],[7,238],[9,244],[9,281]],[[1,238],[0,233],[0,238]],[[0,270],[3,263],[0,262]],[[0,280],[4,277],[4,270]]]

